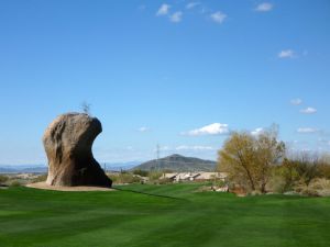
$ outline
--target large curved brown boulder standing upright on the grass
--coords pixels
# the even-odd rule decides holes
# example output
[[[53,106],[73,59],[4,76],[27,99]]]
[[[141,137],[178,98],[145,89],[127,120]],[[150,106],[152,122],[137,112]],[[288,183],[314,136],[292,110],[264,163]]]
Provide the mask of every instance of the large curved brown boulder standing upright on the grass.
[[[88,114],[67,113],[55,119],[43,137],[48,158],[46,183],[111,187],[112,181],[91,153],[92,143],[101,132],[100,121]]]

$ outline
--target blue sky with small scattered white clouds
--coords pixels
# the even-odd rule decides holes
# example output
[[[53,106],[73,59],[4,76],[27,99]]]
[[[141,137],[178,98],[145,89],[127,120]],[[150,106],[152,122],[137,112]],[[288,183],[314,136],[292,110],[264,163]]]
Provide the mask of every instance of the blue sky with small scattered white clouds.
[[[46,126],[84,101],[101,162],[216,159],[273,123],[330,150],[328,0],[1,1],[0,33],[0,164],[45,164]]]

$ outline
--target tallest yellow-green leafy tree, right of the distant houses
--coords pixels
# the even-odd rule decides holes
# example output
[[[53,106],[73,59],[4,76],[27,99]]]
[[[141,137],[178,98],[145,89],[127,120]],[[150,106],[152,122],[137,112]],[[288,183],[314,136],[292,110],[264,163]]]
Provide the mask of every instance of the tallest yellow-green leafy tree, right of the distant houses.
[[[218,169],[248,190],[265,193],[272,167],[279,164],[284,155],[285,144],[277,141],[275,127],[257,136],[234,132],[219,151]]]

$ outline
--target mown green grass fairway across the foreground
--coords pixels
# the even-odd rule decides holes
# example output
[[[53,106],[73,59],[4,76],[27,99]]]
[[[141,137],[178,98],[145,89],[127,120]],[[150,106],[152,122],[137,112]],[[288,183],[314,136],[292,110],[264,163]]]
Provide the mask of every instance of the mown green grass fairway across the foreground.
[[[0,190],[0,246],[330,246],[328,198],[237,198],[197,193],[198,187]]]

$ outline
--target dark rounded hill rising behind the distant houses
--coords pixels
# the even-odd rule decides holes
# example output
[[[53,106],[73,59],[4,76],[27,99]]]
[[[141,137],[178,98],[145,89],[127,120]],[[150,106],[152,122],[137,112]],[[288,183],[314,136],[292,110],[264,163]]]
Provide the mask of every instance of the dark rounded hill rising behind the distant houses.
[[[182,171],[213,171],[217,162],[182,155],[170,155],[162,159],[154,159],[141,164],[133,169],[141,170],[172,170]]]

